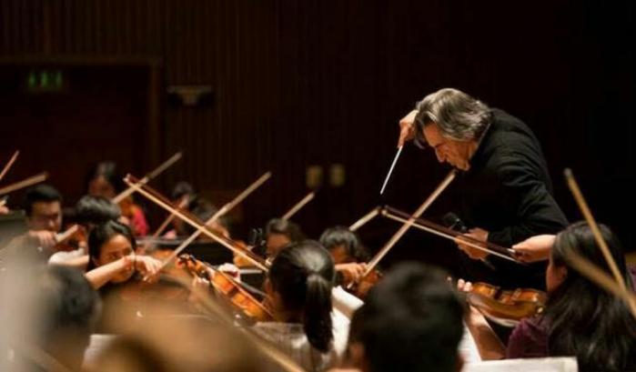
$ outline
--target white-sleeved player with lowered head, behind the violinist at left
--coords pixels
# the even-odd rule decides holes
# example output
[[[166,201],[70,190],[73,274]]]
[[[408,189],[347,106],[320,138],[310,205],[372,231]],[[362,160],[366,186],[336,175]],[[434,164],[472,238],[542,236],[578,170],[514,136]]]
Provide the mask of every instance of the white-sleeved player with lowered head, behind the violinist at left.
[[[79,226],[76,236],[80,236],[77,248],[55,253],[49,258],[48,263],[86,269],[88,265],[87,236],[95,226],[105,224],[110,220],[118,220],[120,217],[119,206],[106,197],[83,196],[76,204],[76,223]]]

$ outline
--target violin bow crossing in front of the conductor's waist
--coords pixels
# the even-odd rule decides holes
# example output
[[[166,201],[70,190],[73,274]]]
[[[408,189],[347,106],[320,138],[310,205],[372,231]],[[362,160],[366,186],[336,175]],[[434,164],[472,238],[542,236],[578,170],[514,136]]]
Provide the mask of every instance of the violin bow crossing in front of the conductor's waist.
[[[381,212],[382,216],[385,216],[394,221],[406,223],[409,218],[409,214],[399,211],[398,209],[391,208],[390,206],[384,207]],[[497,246],[490,242],[483,242],[481,240],[472,238],[470,236],[463,236],[458,231],[449,229],[448,227],[440,226],[433,222],[430,222],[424,218],[416,218],[413,222],[413,227],[426,231],[430,234],[441,236],[455,242],[460,242],[463,245],[471,246],[475,249],[479,249],[483,252],[488,252],[490,255],[499,256],[509,261],[523,265],[519,260],[515,259],[512,255],[514,250],[510,248],[504,248],[503,246]]]

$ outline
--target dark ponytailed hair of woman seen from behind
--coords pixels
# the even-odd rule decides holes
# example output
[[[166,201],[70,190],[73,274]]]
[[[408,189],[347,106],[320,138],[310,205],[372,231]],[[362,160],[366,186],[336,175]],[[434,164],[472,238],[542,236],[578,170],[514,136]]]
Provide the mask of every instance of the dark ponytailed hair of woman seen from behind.
[[[269,281],[283,306],[302,314],[309,344],[326,353],[333,341],[331,289],[335,268],[327,249],[313,240],[291,243],[269,268]]]

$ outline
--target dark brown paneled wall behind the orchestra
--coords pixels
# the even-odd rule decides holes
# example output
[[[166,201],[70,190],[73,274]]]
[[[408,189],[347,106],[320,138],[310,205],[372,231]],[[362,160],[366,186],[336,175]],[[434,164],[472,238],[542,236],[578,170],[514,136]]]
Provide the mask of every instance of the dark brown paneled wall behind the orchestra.
[[[413,147],[384,199],[378,190],[399,117],[430,92],[454,86],[526,121],[570,219],[580,214],[562,179],[565,166],[597,218],[631,248],[633,6],[4,0],[0,156],[16,147],[24,156],[6,181],[49,170],[71,203],[83,193],[90,163],[114,158],[140,175],[181,149],[184,160],[156,188],[167,192],[186,179],[222,204],[271,170],[268,185],[235,213],[236,234],[245,236],[304,196],[307,167],[322,166],[318,197],[296,218],[318,236],[379,203],[412,210],[428,196],[446,169]],[[20,74],[48,66],[66,72],[65,93],[20,90]],[[171,85],[210,85],[213,99],[176,105],[166,93]],[[345,166],[344,186],[328,185],[335,164]],[[449,190],[428,215],[453,209],[452,200]],[[377,247],[395,228],[374,221],[360,233]],[[435,237],[412,233],[388,259],[451,265],[452,252]]]

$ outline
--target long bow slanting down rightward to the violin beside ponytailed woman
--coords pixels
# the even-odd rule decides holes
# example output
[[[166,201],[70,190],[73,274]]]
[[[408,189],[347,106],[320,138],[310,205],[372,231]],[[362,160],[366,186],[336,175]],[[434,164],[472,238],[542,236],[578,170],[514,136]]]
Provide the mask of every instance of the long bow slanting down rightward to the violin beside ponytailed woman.
[[[205,224],[200,222],[196,216],[192,216],[186,211],[178,210],[177,208],[175,208],[174,206],[170,204],[170,202],[167,200],[165,196],[162,196],[160,193],[158,193],[156,190],[154,190],[150,186],[138,185],[138,180],[134,176],[127,175],[124,178],[124,182],[126,182],[128,186],[135,189],[135,191],[141,194],[142,196],[145,196],[146,198],[150,199],[157,206],[164,208],[165,210],[167,210],[167,212],[173,213],[175,216],[182,219],[188,225],[194,227],[197,230],[200,230],[201,233],[205,234],[206,236],[209,236],[220,245],[227,247],[227,249],[236,253],[238,256],[243,256],[252,265],[257,266],[259,269],[263,271],[266,271],[266,272],[268,271],[268,266],[265,263],[261,262],[262,260],[259,257],[253,256],[254,254],[251,252],[237,248],[236,243],[232,241],[231,239],[227,239],[226,237],[223,237],[223,236],[218,236],[217,233],[213,232],[212,230],[207,228]]]

